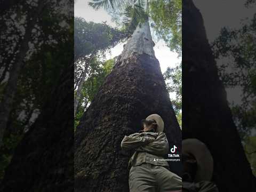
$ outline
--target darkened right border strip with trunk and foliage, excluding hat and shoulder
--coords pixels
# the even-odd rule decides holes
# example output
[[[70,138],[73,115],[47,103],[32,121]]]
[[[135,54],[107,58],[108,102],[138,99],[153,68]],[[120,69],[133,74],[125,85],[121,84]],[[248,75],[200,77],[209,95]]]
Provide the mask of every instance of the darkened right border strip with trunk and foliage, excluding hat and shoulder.
[[[256,190],[255,6],[182,1],[182,139],[209,148],[219,191]]]

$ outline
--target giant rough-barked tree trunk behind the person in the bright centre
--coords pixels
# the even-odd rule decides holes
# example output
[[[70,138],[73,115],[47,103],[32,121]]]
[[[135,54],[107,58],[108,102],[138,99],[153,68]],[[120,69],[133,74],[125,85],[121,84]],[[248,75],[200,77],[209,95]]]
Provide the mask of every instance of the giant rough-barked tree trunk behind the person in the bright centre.
[[[77,192],[129,191],[127,164],[132,154],[120,144],[124,135],[139,131],[140,120],[150,114],[162,116],[170,146],[180,149],[180,127],[153,46],[149,24],[143,23],[81,118],[75,134]]]

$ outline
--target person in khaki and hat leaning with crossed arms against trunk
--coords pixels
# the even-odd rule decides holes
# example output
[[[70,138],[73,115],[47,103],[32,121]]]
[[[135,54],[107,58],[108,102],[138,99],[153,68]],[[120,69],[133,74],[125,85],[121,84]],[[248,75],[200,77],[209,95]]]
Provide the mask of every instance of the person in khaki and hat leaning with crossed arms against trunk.
[[[157,114],[141,121],[143,130],[125,136],[123,150],[135,149],[129,161],[129,188],[131,192],[181,191],[182,180],[169,170],[166,161],[159,161],[169,151],[164,122]]]

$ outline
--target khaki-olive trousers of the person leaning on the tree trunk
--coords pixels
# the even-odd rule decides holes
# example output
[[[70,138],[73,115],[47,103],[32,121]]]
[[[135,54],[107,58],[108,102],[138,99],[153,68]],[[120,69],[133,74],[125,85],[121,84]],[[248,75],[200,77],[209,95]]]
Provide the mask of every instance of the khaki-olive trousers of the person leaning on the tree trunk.
[[[129,188],[130,192],[181,192],[182,179],[164,166],[143,163],[131,167]]]

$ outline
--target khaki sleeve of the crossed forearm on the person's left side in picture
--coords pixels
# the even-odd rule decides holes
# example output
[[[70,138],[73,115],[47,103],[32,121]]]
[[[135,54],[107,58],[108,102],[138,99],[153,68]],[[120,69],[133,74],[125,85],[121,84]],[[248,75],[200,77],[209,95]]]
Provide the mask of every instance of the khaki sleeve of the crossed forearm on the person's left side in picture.
[[[147,145],[150,142],[155,141],[154,137],[145,134],[131,134],[129,136],[125,136],[121,142],[121,148],[125,150],[135,149],[142,145]]]

